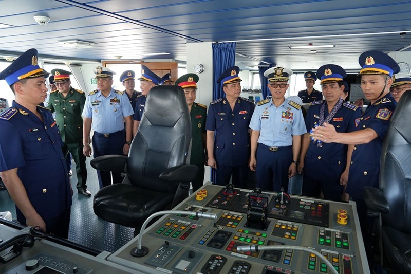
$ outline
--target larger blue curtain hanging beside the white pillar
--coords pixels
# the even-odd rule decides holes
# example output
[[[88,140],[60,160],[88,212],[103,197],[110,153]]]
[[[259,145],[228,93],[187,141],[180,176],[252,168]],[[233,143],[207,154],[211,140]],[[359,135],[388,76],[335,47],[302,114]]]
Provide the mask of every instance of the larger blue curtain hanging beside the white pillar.
[[[224,97],[221,84],[217,83],[218,77],[227,68],[234,66],[235,42],[214,43],[213,46],[213,101]]]

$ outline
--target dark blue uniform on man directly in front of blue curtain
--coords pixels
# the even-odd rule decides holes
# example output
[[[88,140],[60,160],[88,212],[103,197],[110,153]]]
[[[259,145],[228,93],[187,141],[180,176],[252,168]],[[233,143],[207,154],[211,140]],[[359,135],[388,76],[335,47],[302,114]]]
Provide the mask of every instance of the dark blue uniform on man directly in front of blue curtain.
[[[250,158],[248,126],[253,112],[254,103],[241,97],[237,99],[233,111],[226,98],[211,102],[206,130],[215,131],[215,184],[228,184],[232,174],[236,187],[246,187]]]

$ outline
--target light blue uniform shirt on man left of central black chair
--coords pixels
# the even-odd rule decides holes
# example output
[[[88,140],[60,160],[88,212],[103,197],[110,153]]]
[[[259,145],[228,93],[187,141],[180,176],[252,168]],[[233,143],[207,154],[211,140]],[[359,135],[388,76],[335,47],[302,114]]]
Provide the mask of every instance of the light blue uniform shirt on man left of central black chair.
[[[123,118],[134,114],[127,95],[113,88],[107,97],[104,97],[99,90],[95,92],[87,96],[82,113],[82,116],[92,118],[92,130],[103,134],[123,130]]]

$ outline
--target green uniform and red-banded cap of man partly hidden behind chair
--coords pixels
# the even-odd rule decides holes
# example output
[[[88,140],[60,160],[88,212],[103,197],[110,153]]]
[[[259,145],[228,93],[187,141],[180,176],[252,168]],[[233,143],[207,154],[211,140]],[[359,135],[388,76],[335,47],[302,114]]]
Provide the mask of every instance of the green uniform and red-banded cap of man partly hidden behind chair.
[[[197,82],[198,75],[196,74],[185,74],[176,81],[176,85],[184,89],[188,104],[192,103],[190,110],[192,127],[190,164],[198,167],[197,175],[191,182],[193,192],[196,192],[204,184],[204,162],[206,161],[203,135],[206,134],[207,106],[194,102],[195,93],[194,96],[188,95],[190,90],[197,91]]]

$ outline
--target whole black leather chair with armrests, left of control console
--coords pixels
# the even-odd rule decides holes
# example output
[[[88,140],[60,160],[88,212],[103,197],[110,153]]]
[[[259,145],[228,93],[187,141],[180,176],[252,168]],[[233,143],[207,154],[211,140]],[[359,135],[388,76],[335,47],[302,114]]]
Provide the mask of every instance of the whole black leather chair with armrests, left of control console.
[[[96,193],[96,215],[138,230],[148,216],[169,210],[187,197],[197,173],[196,166],[185,165],[191,131],[184,90],[153,87],[128,157],[105,155],[91,160],[95,169],[126,172],[121,184]]]

